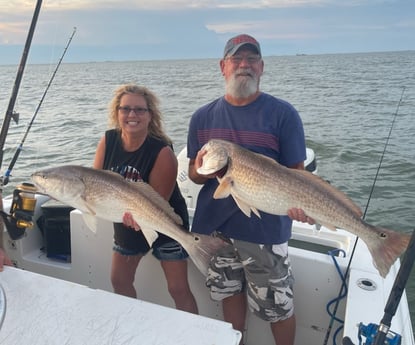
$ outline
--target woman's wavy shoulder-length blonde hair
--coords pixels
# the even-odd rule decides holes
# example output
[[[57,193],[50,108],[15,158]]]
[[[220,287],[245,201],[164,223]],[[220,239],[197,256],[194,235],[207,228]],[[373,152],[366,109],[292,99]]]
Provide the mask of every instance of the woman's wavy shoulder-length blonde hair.
[[[167,144],[172,144],[171,139],[163,130],[162,115],[159,109],[160,101],[157,96],[144,86],[135,84],[121,85],[114,91],[114,98],[109,105],[109,126],[121,130],[118,121],[118,107],[120,106],[121,97],[125,94],[143,96],[147,103],[148,111],[151,115],[148,133],[152,137],[164,140]]]

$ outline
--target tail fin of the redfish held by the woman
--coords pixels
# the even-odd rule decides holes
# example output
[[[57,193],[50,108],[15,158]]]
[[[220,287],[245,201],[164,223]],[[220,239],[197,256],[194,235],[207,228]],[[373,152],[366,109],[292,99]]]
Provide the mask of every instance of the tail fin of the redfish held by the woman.
[[[219,249],[229,246],[229,243],[219,237],[197,233],[190,234],[193,236],[193,243],[185,249],[196,267],[206,277],[210,260],[214,254]]]

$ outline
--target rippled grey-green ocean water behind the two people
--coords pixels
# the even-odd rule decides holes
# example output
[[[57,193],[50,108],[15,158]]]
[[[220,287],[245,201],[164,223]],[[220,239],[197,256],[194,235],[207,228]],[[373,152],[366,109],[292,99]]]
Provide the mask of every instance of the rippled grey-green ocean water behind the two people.
[[[412,232],[415,51],[275,56],[264,61],[261,89],[298,109],[307,145],[317,155],[319,175],[361,206],[370,223]],[[10,125],[2,174],[36,114],[55,67],[55,63],[26,66],[15,105],[20,121]],[[3,118],[17,68],[17,63],[0,66]],[[59,164],[91,165],[97,142],[107,128],[113,90],[127,82],[145,85],[157,93],[165,129],[177,152],[186,144],[192,113],[223,94],[216,59],[63,63],[3,194],[29,181],[37,169]],[[415,329],[414,271],[407,294]]]

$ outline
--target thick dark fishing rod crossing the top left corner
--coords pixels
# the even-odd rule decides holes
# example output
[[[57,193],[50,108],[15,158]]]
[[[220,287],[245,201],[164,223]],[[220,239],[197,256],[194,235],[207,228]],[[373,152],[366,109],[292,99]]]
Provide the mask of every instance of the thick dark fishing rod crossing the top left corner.
[[[2,162],[3,162],[4,144],[6,142],[7,132],[8,132],[9,127],[10,127],[10,121],[13,118],[16,121],[16,123],[18,122],[18,116],[19,115],[14,112],[14,105],[16,103],[17,94],[19,93],[20,82],[21,82],[22,77],[23,77],[23,72],[24,72],[24,68],[26,66],[27,56],[29,55],[30,45],[32,44],[33,33],[35,31],[35,27],[36,27],[37,19],[39,17],[39,12],[40,12],[41,6],[42,6],[42,0],[37,0],[35,12],[34,12],[33,17],[32,17],[32,23],[30,24],[30,29],[29,29],[29,33],[28,33],[28,36],[27,36],[27,39],[26,39],[26,44],[24,46],[22,58],[20,60],[20,65],[19,65],[19,69],[17,71],[16,80],[14,82],[13,92],[12,92],[12,95],[10,97],[9,105],[7,107],[6,115],[5,115],[4,121],[3,121],[3,126],[1,128],[1,133],[0,133],[0,170],[1,170],[1,165],[2,165]]]

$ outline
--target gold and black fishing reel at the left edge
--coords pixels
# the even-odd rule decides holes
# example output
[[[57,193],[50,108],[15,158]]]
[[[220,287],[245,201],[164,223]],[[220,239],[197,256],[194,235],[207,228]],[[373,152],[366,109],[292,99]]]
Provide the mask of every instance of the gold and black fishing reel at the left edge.
[[[13,191],[10,214],[0,211],[6,225],[7,232],[12,240],[23,237],[27,228],[32,228],[33,215],[36,206],[36,187],[31,183],[23,183]]]

